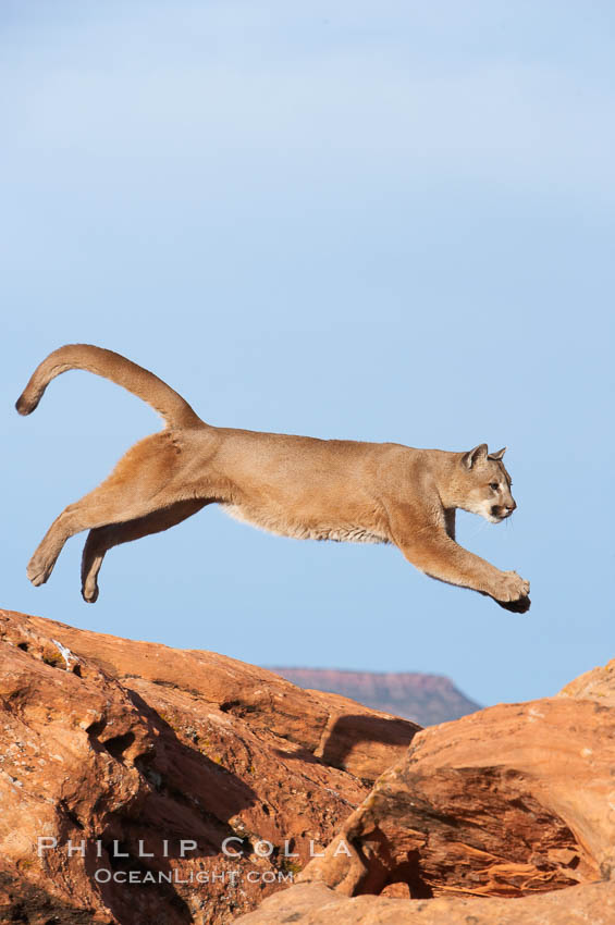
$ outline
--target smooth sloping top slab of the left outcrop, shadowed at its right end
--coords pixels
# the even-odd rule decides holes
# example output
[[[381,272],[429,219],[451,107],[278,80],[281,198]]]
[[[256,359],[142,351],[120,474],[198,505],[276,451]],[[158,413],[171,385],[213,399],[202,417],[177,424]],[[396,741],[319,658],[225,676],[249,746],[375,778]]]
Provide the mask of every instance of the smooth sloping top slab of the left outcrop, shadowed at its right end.
[[[121,639],[41,617],[27,619],[42,633],[52,629],[60,642],[93,658],[125,687],[140,686],[155,696],[164,688],[176,690],[190,702],[211,704],[245,720],[251,730],[273,732],[369,782],[402,756],[420,728],[339,694],[304,691],[266,668],[216,652]]]

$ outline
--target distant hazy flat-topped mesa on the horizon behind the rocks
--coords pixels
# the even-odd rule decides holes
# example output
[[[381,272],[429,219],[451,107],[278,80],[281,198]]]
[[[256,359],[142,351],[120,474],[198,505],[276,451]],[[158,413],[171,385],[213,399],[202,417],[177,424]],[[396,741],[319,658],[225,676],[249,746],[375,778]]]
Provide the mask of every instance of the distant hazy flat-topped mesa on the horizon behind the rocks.
[[[337,693],[369,706],[403,716],[419,726],[460,719],[481,710],[442,675],[419,671],[347,671],[337,668],[269,667],[299,688]]]

